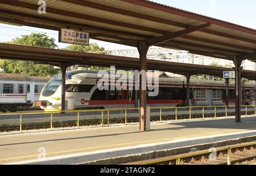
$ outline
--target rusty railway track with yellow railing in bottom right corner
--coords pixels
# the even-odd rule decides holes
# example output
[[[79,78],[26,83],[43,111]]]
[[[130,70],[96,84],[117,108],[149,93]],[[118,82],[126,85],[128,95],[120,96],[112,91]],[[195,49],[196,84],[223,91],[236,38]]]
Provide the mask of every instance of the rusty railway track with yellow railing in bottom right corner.
[[[126,165],[242,165],[255,164],[256,142],[126,163]]]

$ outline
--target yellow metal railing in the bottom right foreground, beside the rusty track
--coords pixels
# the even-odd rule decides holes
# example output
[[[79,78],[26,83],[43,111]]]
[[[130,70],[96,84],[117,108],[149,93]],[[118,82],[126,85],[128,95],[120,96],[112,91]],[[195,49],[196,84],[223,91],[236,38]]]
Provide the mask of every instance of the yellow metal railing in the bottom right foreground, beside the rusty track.
[[[228,145],[228,146],[224,146],[224,147],[214,148],[214,152],[226,151],[227,152],[227,162],[226,163],[228,165],[231,165],[232,149],[241,148],[241,147],[250,147],[250,146],[253,146],[253,145],[256,145],[256,141],[249,142],[249,143],[235,144],[235,145]],[[155,158],[155,159],[151,159],[151,160],[129,162],[129,163],[126,163],[126,165],[156,165],[156,164],[167,163],[169,161],[176,161],[176,165],[180,165],[182,158],[199,156],[201,154],[208,154],[208,153],[212,153],[212,151],[210,151],[210,149],[206,149],[206,150],[203,150],[203,151],[177,154],[177,155],[174,155],[174,156]]]

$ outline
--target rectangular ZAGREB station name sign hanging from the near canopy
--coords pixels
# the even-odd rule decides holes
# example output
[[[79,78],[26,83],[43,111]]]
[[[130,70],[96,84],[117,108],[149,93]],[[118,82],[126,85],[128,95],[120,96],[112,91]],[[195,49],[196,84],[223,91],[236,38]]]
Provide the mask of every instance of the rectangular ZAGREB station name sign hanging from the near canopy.
[[[61,28],[59,31],[59,42],[77,45],[89,45],[89,33]]]

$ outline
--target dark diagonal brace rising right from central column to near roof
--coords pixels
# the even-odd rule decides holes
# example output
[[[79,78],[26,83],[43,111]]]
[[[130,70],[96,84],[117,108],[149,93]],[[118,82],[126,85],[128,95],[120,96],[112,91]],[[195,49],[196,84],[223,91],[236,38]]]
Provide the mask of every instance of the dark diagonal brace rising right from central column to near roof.
[[[206,23],[202,25],[197,25],[195,27],[187,28],[181,31],[167,33],[166,35],[163,35],[163,36],[150,38],[147,40],[147,45],[148,46],[158,45],[158,44],[161,44],[162,42],[169,41],[172,38],[181,37],[181,36],[187,35],[188,33],[195,32],[200,29],[207,28],[209,26],[210,26],[210,23]]]

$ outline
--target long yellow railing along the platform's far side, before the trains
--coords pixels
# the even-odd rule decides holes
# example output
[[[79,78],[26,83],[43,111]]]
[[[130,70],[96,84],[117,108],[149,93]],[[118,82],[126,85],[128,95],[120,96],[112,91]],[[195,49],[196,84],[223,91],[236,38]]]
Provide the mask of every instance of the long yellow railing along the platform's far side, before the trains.
[[[188,118],[192,119],[192,110],[193,109],[201,109],[201,117],[203,119],[205,118],[205,110],[206,109],[213,109],[214,111],[211,111],[211,113],[214,112],[214,118],[217,118],[217,109],[222,109],[224,112],[224,117],[228,118],[228,108],[233,108],[235,107],[234,105],[230,106],[186,106],[186,107],[151,107],[151,110],[159,110],[159,121],[163,121],[163,111],[164,110],[174,110],[174,115],[175,115],[175,121],[178,120],[178,115],[180,110],[187,109],[188,110]],[[245,107],[245,115],[248,115],[248,109],[253,109],[251,111],[254,111],[253,114],[256,115],[256,106],[251,106],[251,105],[242,105],[242,107]],[[16,112],[16,113],[0,113],[1,115],[19,115],[19,131],[22,133],[22,125],[23,125],[23,116],[27,114],[49,114],[49,120],[50,120],[50,128],[53,130],[53,117],[54,114],[56,113],[77,113],[76,117],[76,126],[77,128],[80,128],[80,123],[81,123],[81,113],[86,113],[86,112],[101,112],[101,126],[104,127],[105,125],[109,126],[110,125],[110,112],[111,111],[122,111],[124,112],[125,115],[125,124],[127,124],[127,117],[128,113],[127,111],[138,111],[138,108],[117,108],[117,109],[88,109],[88,110],[58,110],[58,111],[22,111],[22,112]],[[169,112],[170,113],[170,112]],[[152,113],[154,114],[154,113]],[[155,114],[158,114],[157,112]],[[158,116],[158,115],[157,115]],[[1,118],[0,118],[1,120]],[[106,122],[105,122],[106,120]],[[1,123],[1,121],[0,121]],[[0,124],[1,125],[1,124]]]

